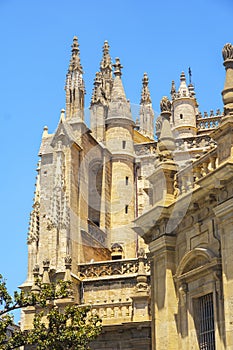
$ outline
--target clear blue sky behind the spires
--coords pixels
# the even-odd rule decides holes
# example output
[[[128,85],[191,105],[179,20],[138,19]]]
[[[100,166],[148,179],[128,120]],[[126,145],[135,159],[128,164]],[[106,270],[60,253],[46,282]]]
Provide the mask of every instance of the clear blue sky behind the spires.
[[[74,35],[86,107],[104,40],[120,57],[131,103],[147,72],[154,110],[192,68],[200,110],[222,109],[222,47],[233,42],[231,0],[0,0],[0,273],[11,291],[26,278],[29,213],[44,125],[55,130]]]

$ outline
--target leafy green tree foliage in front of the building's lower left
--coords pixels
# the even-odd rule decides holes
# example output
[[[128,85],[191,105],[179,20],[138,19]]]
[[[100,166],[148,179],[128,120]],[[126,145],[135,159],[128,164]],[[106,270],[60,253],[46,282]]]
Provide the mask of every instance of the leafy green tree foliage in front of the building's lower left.
[[[0,349],[12,350],[23,345],[33,345],[38,350],[89,349],[88,344],[101,332],[100,318],[89,306],[69,305],[59,308],[56,301],[70,296],[70,283],[38,282],[39,292],[15,292],[11,297],[6,282],[0,275]],[[11,311],[34,306],[32,329],[16,329],[7,337],[7,329],[14,325]]]

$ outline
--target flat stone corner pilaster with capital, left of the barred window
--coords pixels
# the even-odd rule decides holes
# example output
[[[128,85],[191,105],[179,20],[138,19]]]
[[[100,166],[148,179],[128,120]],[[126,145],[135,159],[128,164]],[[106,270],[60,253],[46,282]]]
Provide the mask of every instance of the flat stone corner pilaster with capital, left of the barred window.
[[[152,339],[159,350],[178,349],[176,317],[177,296],[173,274],[175,272],[175,242],[172,236],[161,236],[149,244],[152,276],[156,283],[152,295]],[[153,341],[153,340],[152,340]]]

